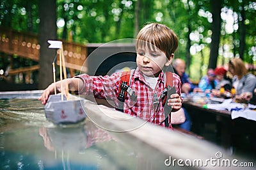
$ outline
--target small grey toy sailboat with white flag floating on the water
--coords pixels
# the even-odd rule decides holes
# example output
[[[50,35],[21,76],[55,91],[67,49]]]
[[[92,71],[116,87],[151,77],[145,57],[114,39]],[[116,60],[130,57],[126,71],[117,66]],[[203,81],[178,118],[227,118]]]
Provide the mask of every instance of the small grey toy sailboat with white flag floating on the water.
[[[60,80],[62,80],[62,67],[64,79],[67,79],[67,73],[65,68],[65,58],[63,55],[63,45],[60,41],[48,41],[51,45],[51,49],[60,49]],[[54,62],[52,63],[53,68],[53,79],[56,82],[55,78],[55,66]],[[55,95],[50,95],[47,103],[45,104],[45,117],[47,120],[52,121],[56,124],[68,124],[68,123],[77,123],[83,121],[86,118],[86,113],[83,108],[84,99],[76,97],[75,95],[70,95],[68,93],[68,84],[61,84],[66,86],[67,97],[61,93],[56,94],[56,87],[54,86]]]

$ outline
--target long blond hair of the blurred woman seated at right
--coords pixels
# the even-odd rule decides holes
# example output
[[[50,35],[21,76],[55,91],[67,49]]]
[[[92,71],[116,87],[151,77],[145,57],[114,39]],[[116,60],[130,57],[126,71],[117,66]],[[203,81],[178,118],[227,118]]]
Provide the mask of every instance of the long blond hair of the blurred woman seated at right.
[[[247,68],[241,58],[233,58],[229,61],[228,67],[234,69],[234,75],[237,75],[238,79],[241,79],[244,75],[248,73]]]

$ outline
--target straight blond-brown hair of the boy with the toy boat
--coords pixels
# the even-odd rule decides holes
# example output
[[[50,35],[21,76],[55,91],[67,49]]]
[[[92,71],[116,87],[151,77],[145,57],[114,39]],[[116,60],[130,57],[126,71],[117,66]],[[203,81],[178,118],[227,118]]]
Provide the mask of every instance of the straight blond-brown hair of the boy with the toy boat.
[[[147,24],[140,30],[136,37],[136,50],[145,47],[145,45],[148,45],[150,49],[154,50],[157,47],[170,59],[170,56],[178,48],[178,38],[172,29],[163,24]]]

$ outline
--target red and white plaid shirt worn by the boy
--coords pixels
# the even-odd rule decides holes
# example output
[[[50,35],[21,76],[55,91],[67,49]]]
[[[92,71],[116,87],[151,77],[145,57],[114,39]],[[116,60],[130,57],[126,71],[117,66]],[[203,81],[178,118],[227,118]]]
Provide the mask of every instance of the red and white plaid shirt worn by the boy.
[[[93,95],[95,98],[103,98],[111,100],[118,105],[117,99],[120,88],[120,77],[122,73],[113,73],[113,75],[105,76],[90,76],[87,74],[81,74],[79,77],[83,80],[83,88],[79,91],[80,94]],[[177,93],[180,95],[180,78],[179,75],[173,73],[173,86]],[[134,90],[137,100],[132,101],[127,95],[124,102],[124,112],[131,116],[137,116],[143,120],[150,121],[155,125],[164,125],[164,106],[162,104],[160,95],[164,89],[164,73],[159,74],[159,79],[155,89],[150,88],[148,82],[145,81],[143,74],[137,68],[132,75],[130,88]],[[154,107],[154,93],[159,98],[159,107]],[[162,123],[163,122],[163,123]],[[170,116],[169,116],[170,122]],[[172,128],[170,123],[169,128]]]

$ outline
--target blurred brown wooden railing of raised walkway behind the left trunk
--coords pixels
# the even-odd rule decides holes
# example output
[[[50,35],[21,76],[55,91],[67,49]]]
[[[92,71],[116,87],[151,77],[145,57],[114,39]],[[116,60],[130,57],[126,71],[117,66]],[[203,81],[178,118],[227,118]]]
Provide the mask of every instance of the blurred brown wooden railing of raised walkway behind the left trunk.
[[[64,40],[62,42],[67,68],[87,72],[88,69],[85,62],[87,58],[86,46]],[[38,36],[0,27],[0,51],[12,56],[39,61],[40,44],[38,43]],[[58,58],[57,64],[59,64]],[[24,70],[28,72],[28,69]],[[22,72],[22,69],[20,72]],[[13,73],[16,72],[13,71]]]

